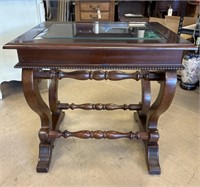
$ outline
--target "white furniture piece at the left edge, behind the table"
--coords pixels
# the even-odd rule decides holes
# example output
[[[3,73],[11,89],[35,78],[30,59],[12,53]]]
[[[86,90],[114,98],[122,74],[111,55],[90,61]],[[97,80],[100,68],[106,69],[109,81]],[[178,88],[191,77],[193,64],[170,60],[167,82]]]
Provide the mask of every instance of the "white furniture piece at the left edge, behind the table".
[[[14,68],[18,62],[17,51],[3,50],[3,45],[45,21],[45,15],[42,0],[1,0],[0,12],[0,99],[2,99],[1,84],[5,81],[21,80],[21,70]]]

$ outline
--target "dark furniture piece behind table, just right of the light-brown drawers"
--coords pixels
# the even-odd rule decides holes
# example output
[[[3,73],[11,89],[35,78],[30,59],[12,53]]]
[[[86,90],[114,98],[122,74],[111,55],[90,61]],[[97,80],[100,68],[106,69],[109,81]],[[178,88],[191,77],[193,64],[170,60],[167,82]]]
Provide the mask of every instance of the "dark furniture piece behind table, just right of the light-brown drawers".
[[[118,20],[147,22],[150,17],[150,4],[149,1],[119,1]]]

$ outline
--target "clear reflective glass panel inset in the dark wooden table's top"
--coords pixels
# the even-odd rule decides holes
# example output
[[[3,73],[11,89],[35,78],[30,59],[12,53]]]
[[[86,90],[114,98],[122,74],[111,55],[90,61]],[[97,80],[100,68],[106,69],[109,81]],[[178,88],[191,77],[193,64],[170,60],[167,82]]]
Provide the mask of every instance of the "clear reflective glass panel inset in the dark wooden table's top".
[[[164,36],[148,23],[55,22],[35,39],[159,40]]]

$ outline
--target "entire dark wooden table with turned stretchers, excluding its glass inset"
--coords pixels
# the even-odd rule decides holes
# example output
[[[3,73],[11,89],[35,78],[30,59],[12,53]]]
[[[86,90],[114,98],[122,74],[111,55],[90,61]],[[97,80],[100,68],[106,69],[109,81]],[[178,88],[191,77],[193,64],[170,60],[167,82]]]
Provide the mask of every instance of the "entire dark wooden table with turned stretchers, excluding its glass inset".
[[[19,63],[23,68],[22,81],[24,96],[30,108],[41,119],[39,130],[38,172],[49,170],[53,143],[61,136],[78,138],[130,138],[140,139],[146,148],[146,161],[150,174],[160,174],[159,165],[159,117],[170,106],[176,88],[176,70],[181,68],[182,54],[185,50],[196,50],[190,42],[157,23],[151,27],[160,32],[162,40],[73,40],[39,39],[34,37],[47,29],[51,23],[44,23],[17,39],[6,44],[6,49],[17,49]],[[43,69],[45,68],[45,69]],[[49,68],[49,70],[46,70]],[[75,68],[79,71],[64,72],[60,69]],[[87,71],[87,69],[140,69],[133,73],[122,71]],[[86,70],[83,70],[86,69]],[[78,80],[141,80],[141,102],[139,104],[68,104],[58,100],[58,82],[62,78]],[[42,99],[38,80],[50,79],[49,106]],[[160,84],[157,99],[151,104],[151,81]],[[116,131],[59,131],[64,118],[63,109],[85,110],[136,110],[135,119],[140,131],[122,133]]]

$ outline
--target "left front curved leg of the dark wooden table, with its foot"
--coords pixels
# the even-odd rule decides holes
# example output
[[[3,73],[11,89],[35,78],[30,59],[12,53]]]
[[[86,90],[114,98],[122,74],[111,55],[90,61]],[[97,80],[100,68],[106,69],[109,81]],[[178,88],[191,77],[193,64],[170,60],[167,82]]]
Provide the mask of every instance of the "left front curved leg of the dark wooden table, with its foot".
[[[30,108],[35,111],[41,120],[41,129],[39,131],[40,146],[37,172],[47,172],[51,162],[52,141],[46,137],[46,132],[52,130],[52,117],[49,107],[43,101],[39,88],[38,80],[34,79],[33,69],[23,69],[22,83],[24,96]]]

